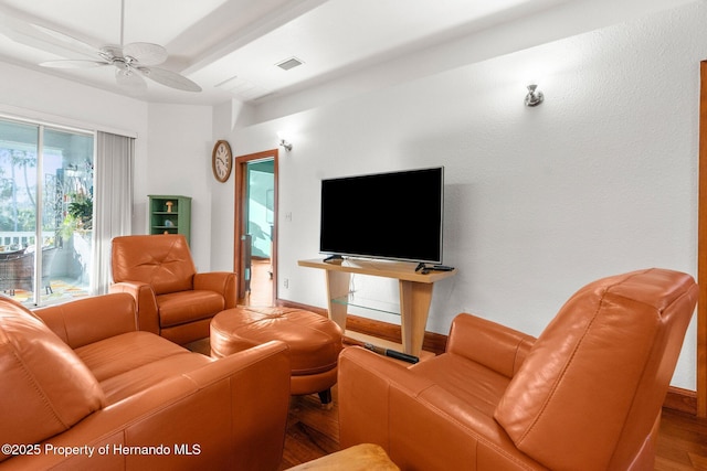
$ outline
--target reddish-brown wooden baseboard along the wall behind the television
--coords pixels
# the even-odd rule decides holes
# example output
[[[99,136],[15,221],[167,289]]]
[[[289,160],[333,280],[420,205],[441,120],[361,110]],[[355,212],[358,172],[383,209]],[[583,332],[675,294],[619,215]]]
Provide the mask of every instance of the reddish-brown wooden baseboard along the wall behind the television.
[[[302,304],[298,302],[278,299],[276,301],[276,304],[287,308],[305,309],[307,311],[316,312],[321,315],[328,315],[326,309]],[[367,335],[378,336],[390,342],[400,343],[402,338],[400,325],[377,321],[374,319],[361,318],[359,315],[349,314],[346,318],[346,328],[359,333],[365,333]],[[446,339],[447,336],[441,333],[425,332],[422,349],[440,355],[446,350]],[[668,387],[667,394],[665,396],[663,407],[696,416],[697,393],[694,390],[671,386]]]

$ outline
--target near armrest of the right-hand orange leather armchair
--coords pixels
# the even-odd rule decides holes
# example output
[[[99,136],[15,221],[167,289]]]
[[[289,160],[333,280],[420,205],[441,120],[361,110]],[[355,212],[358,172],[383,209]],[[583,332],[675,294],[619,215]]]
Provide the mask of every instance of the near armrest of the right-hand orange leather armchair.
[[[492,416],[475,414],[478,405],[420,377],[415,366],[348,347],[338,390],[341,449],[376,443],[401,469],[534,469]]]

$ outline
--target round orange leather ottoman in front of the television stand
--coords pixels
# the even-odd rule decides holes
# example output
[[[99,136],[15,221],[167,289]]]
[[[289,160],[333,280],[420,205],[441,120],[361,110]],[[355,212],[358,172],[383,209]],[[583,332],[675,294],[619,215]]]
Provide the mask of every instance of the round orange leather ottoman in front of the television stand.
[[[291,394],[318,393],[331,403],[341,352],[341,329],[310,311],[241,306],[211,320],[211,356],[220,358],[271,340],[289,345]]]

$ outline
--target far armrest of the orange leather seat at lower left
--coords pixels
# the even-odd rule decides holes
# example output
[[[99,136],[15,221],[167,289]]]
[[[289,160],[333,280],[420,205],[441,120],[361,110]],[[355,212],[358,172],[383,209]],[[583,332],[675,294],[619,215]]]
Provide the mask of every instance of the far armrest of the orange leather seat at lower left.
[[[125,293],[39,308],[34,314],[72,349],[137,330],[135,300]]]

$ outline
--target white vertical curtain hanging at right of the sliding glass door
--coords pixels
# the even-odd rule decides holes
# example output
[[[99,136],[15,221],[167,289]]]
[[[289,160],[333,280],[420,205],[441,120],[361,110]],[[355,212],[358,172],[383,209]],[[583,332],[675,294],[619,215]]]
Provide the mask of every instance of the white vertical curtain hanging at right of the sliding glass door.
[[[110,240],[133,229],[135,139],[98,132],[96,139],[94,247],[91,291],[108,292]]]

